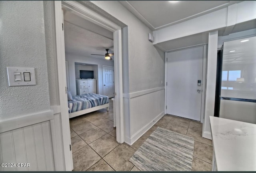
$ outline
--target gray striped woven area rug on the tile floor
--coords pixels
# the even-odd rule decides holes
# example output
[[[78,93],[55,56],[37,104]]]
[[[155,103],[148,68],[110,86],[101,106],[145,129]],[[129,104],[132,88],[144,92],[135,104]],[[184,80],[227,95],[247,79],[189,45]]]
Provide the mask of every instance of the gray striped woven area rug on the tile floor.
[[[194,139],[157,127],[130,158],[141,171],[191,171]]]

